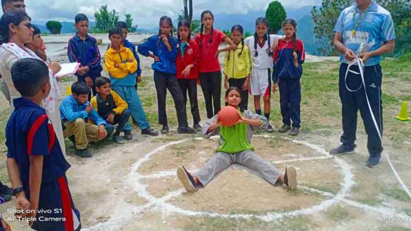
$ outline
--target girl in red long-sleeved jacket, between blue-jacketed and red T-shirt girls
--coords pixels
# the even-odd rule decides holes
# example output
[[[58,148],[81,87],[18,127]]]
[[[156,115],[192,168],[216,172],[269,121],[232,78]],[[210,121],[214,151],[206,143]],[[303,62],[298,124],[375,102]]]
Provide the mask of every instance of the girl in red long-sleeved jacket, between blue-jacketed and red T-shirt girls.
[[[191,113],[193,114],[193,128],[201,131],[200,113],[197,101],[197,80],[199,48],[198,44],[191,39],[190,22],[181,20],[178,23],[178,53],[176,60],[177,80],[184,97],[184,107],[187,103],[187,93],[190,98]]]

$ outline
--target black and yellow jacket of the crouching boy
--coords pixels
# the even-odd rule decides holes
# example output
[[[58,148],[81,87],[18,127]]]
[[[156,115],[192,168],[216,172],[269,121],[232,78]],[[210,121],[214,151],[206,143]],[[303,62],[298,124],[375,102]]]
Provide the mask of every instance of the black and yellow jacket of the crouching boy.
[[[91,98],[90,104],[104,119],[109,114],[121,114],[128,107],[128,104],[115,91],[110,91],[107,100],[103,100],[100,94],[97,94],[97,96]]]

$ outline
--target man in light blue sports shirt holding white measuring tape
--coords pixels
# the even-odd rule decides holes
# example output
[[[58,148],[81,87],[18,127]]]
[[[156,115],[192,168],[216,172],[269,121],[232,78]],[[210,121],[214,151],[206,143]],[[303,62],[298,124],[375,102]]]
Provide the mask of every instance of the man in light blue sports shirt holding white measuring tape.
[[[341,136],[342,145],[332,149],[330,154],[341,156],[354,152],[356,148],[357,112],[360,109],[365,131],[368,135],[369,158],[366,165],[375,168],[380,165],[383,150],[378,134],[378,131],[380,131],[382,135],[383,130],[380,62],[382,54],[394,50],[396,36],[393,19],[390,13],[379,6],[377,2],[373,0],[356,0],[356,4],[341,12],[334,31],[334,46],[342,53],[339,86],[344,132]],[[369,51],[357,54],[356,51],[363,43],[369,44]],[[365,86],[362,86],[358,91],[349,91],[347,87],[356,90],[362,84],[361,76],[351,72],[348,72],[345,81],[348,63],[356,55],[363,60],[365,65]],[[351,66],[350,70],[358,73],[358,65]],[[368,95],[372,113],[377,121],[378,130],[372,120],[366,94]]]

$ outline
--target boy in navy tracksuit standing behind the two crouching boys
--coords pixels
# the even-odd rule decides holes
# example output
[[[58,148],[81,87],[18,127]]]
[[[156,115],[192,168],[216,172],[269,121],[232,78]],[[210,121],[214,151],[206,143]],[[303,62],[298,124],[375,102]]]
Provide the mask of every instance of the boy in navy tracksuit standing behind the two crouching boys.
[[[77,34],[68,41],[67,55],[70,63],[81,63],[77,71],[78,81],[85,82],[96,95],[94,82],[101,76],[101,55],[97,40],[87,34],[88,18],[84,14],[78,14],[75,18]],[[91,94],[89,95],[89,101]]]

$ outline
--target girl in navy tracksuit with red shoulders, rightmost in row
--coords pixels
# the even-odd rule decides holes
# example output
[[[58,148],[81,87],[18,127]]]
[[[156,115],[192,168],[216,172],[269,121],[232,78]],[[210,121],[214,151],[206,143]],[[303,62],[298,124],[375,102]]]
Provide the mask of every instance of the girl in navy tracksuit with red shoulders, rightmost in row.
[[[273,92],[279,87],[279,101],[283,126],[279,132],[289,130],[291,136],[300,132],[300,102],[301,102],[301,75],[303,74],[305,52],[304,44],[297,39],[297,23],[287,19],[283,23],[285,40],[278,43],[278,49],[274,53]],[[291,128],[292,120],[292,128]]]

